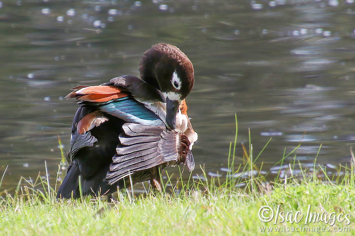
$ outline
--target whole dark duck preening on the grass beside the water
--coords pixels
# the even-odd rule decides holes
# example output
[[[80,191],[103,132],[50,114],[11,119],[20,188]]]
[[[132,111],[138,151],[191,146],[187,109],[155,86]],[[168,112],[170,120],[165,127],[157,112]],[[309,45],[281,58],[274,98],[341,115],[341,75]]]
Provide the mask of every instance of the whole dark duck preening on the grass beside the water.
[[[80,85],[66,96],[80,107],[58,198],[109,195],[148,180],[158,188],[159,169],[195,168],[198,134],[185,100],[194,85],[191,61],[178,47],[159,43],[143,53],[139,73]]]

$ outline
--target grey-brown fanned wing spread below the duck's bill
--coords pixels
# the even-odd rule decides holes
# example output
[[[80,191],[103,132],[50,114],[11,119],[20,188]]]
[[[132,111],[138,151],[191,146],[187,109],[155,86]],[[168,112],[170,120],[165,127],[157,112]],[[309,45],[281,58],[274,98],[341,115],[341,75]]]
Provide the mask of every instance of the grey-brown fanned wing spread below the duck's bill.
[[[136,123],[125,123],[122,128],[121,145],[116,148],[117,154],[106,175],[109,184],[160,165],[187,163],[189,171],[192,171],[195,164],[189,149],[190,142],[183,133]],[[149,179],[149,175],[139,176],[142,179],[134,178],[135,182]]]

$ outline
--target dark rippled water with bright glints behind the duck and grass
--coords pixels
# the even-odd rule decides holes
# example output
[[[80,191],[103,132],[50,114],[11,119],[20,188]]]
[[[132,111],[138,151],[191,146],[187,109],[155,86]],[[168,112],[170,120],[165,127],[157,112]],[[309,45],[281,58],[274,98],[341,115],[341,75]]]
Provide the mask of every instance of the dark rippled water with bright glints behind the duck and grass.
[[[77,85],[139,76],[142,52],[159,42],[178,46],[195,68],[187,103],[197,167],[225,175],[237,114],[236,155],[250,128],[255,154],[273,136],[258,161],[264,170],[301,143],[304,166],[323,144],[317,162],[334,171],[355,140],[353,1],[1,2],[2,189],[44,175],[44,160],[54,184],[57,135],[67,150],[78,108],[63,97]]]

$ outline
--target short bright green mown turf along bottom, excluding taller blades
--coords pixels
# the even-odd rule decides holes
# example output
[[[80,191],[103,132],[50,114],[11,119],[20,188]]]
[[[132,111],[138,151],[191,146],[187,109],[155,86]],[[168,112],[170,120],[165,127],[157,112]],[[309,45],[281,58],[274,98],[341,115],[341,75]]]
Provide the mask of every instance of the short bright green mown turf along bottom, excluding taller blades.
[[[286,230],[285,226],[290,232],[282,235],[317,235],[316,230],[321,230],[317,227],[328,227],[324,230],[332,231],[337,227],[337,230],[350,231],[339,235],[354,235],[354,196],[353,179],[343,185],[314,181],[279,184],[271,191],[249,194],[214,189],[212,192],[189,191],[180,196],[148,194],[134,201],[126,196],[116,204],[89,198],[56,202],[53,196],[46,202],[39,195],[25,194],[2,200],[0,231],[1,235],[279,235],[274,232],[277,229],[262,233],[260,227]],[[280,205],[280,211],[291,212],[292,218],[296,216],[300,223],[285,220],[273,225],[274,219],[262,222],[258,212],[266,205],[274,209],[275,214]],[[305,225],[307,205],[311,205],[311,213],[326,212],[326,220],[334,219],[332,212],[336,217],[341,213],[344,216],[335,220],[333,226],[324,220]],[[296,215],[297,211],[305,215]],[[348,225],[345,214],[350,214]],[[268,213],[263,215],[268,216]],[[309,227],[309,231],[314,227],[315,232],[296,232],[295,228],[300,226]]]

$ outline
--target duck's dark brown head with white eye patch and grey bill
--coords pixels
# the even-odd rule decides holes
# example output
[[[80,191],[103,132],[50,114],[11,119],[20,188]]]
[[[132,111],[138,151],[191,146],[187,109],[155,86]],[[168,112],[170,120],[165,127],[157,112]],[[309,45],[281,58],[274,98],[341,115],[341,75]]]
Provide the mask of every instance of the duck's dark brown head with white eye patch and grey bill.
[[[164,94],[166,121],[171,129],[175,129],[179,105],[190,93],[194,83],[191,61],[179,48],[160,43],[143,53],[139,72],[142,80]]]

